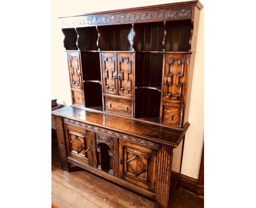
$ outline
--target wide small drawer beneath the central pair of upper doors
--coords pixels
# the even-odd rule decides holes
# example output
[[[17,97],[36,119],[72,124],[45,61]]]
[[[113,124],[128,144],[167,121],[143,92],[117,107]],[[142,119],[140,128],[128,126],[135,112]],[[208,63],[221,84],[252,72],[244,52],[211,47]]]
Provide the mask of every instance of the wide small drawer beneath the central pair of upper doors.
[[[121,99],[119,97],[105,96],[106,112],[119,115],[133,116],[133,100]]]

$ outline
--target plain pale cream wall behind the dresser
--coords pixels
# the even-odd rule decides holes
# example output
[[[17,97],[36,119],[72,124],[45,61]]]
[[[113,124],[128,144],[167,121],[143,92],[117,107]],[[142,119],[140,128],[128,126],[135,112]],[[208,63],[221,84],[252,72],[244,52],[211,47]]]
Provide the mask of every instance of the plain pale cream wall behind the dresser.
[[[52,0],[52,99],[71,105],[67,58],[63,47],[63,34],[58,17],[80,15],[96,11],[143,7],[172,2],[173,0],[147,1],[84,1]],[[203,3],[203,2],[202,2]],[[186,134],[182,174],[198,178],[203,144],[203,9],[200,14],[199,32],[189,111],[190,127]],[[54,127],[54,124],[52,125]]]

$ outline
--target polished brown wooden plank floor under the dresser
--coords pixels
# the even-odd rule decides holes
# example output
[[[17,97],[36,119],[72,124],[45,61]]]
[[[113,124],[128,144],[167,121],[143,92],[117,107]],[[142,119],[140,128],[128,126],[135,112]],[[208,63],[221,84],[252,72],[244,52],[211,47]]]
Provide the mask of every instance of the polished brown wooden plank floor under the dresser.
[[[154,207],[153,201],[86,172],[68,173],[61,169],[56,138],[52,138],[51,159],[52,207]],[[201,208],[203,198],[179,189],[171,199],[172,208]]]

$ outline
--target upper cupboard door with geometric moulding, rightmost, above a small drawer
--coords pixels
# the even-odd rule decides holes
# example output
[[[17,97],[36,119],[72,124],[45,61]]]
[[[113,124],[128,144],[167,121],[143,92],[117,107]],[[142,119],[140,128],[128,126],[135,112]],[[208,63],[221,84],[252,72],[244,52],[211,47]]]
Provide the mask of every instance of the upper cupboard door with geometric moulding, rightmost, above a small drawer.
[[[188,54],[166,54],[162,79],[164,105],[183,104],[187,93]]]

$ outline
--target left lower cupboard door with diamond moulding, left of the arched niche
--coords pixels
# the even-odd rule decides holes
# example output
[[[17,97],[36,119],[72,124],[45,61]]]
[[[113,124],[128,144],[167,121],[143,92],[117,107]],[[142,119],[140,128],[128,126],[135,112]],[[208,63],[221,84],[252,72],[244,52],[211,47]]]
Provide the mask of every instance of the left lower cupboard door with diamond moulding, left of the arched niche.
[[[65,124],[68,156],[97,167],[95,133]]]

